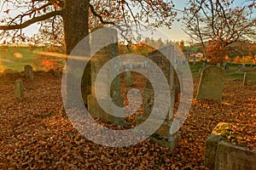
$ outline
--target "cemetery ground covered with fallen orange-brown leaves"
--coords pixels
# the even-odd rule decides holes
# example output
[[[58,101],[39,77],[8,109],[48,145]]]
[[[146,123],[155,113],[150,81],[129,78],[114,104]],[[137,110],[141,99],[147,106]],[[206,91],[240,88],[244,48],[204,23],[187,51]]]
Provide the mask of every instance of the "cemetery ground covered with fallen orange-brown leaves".
[[[243,86],[243,72],[230,67],[219,104],[195,100],[200,66],[190,65],[194,99],[173,151],[149,139],[122,148],[95,144],[84,139],[69,122],[61,99],[61,77],[38,71],[33,80],[26,80],[16,74],[15,79],[22,79],[25,88],[25,99],[19,101],[14,95],[15,79],[7,81],[1,75],[0,169],[207,169],[205,143],[218,122],[233,125],[225,133],[231,143],[256,150],[256,70],[247,66],[248,83]],[[145,79],[132,74],[135,82],[129,88],[142,90]],[[125,95],[124,77],[121,80]],[[136,116],[142,112],[141,108]],[[131,127],[135,126],[136,116],[126,119]]]

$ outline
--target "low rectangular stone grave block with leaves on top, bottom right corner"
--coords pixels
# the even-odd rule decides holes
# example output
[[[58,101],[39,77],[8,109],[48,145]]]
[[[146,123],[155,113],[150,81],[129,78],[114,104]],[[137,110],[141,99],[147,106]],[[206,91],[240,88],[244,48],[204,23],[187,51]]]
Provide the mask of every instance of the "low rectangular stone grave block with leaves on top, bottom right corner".
[[[229,123],[218,123],[207,138],[205,167],[215,170],[256,169],[256,151],[230,144],[221,135],[227,125]]]

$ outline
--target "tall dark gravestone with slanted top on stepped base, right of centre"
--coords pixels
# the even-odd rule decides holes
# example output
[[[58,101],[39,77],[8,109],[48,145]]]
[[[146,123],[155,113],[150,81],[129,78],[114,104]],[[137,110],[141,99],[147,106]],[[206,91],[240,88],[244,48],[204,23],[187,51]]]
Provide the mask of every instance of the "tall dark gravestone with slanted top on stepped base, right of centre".
[[[178,133],[170,133],[173,121],[173,108],[175,100],[174,68],[172,65],[174,64],[176,58],[174,47],[169,46],[166,48],[160,48],[159,50],[155,50],[154,52],[148,54],[148,58],[151,59],[156,65],[158,65],[160,70],[164,73],[171,92],[171,105],[168,115],[166,116],[165,121],[162,124],[160,124],[160,128],[150,137],[150,139],[153,140],[154,142],[159,143],[162,146],[169,148],[169,150],[173,150],[175,147],[175,143],[177,142],[176,140],[178,136]],[[172,64],[168,59],[172,60]],[[148,65],[148,67],[150,66],[151,65]],[[154,73],[152,74],[154,77]],[[159,76],[155,74],[154,79],[158,80]],[[157,88],[161,89],[161,86]],[[166,96],[162,96],[160,98],[165,100]],[[151,83],[147,81],[146,88],[144,88],[143,90],[143,116],[137,118],[137,124],[140,122],[144,122],[148,118],[155,105],[154,102],[154,89],[152,88]],[[154,123],[156,122],[160,122],[158,120],[158,117],[154,117]]]

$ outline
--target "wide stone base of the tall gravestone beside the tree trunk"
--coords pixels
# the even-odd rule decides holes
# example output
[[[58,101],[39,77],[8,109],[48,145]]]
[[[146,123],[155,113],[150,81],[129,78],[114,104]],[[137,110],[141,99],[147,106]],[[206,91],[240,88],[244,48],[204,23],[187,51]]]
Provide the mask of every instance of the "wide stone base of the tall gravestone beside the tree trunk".
[[[110,108],[111,106],[108,106],[108,102],[104,102],[104,100],[107,100],[107,99],[102,98],[102,103],[105,104],[108,108]],[[119,100],[123,101],[123,98],[120,96]],[[124,117],[113,116],[108,114],[106,111],[103,111],[102,107],[98,104],[95,95],[93,94],[88,95],[87,102],[88,102],[88,111],[90,113],[90,116],[92,116],[93,118],[99,118],[99,119],[102,119],[103,121],[110,122],[112,124],[116,124],[119,126],[124,126],[126,124]],[[109,110],[113,112],[112,108],[110,108]]]

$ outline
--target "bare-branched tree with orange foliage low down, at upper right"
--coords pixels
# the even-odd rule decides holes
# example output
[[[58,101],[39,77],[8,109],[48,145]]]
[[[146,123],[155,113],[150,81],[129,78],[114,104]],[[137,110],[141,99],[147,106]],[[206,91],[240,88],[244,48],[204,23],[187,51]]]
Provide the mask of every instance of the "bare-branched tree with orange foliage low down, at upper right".
[[[238,2],[238,1],[237,1]],[[253,1],[237,5],[234,0],[189,0],[185,8],[184,31],[200,42],[203,53],[214,57],[225,54],[233,42],[255,40],[255,18]],[[211,41],[210,44],[208,42]],[[208,50],[208,45],[213,45]],[[220,56],[223,58],[224,56]],[[216,60],[216,59],[215,59]],[[217,59],[221,61],[222,59]]]

